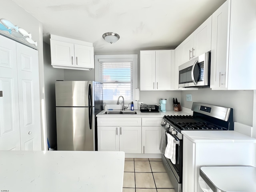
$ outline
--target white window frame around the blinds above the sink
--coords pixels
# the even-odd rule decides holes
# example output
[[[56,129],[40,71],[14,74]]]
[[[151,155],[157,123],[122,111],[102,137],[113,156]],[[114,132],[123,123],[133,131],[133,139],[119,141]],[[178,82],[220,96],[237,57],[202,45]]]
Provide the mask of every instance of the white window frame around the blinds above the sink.
[[[95,55],[94,56],[94,77],[95,81],[99,82],[100,77],[99,77],[99,64],[102,61],[106,62],[127,62],[130,61],[132,62],[132,84],[133,84],[133,89],[132,89],[132,100],[134,101],[134,89],[138,88],[138,55],[137,54],[121,54],[121,55]],[[103,101],[107,102],[108,104],[116,104],[115,100],[108,100],[108,101]],[[130,101],[124,100],[124,103],[130,103]]]

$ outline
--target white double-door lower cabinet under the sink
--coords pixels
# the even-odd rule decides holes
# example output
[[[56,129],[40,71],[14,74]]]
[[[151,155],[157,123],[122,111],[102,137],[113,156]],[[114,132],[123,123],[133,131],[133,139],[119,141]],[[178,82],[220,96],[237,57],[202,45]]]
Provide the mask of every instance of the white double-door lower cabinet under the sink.
[[[98,150],[141,153],[141,118],[98,118]]]

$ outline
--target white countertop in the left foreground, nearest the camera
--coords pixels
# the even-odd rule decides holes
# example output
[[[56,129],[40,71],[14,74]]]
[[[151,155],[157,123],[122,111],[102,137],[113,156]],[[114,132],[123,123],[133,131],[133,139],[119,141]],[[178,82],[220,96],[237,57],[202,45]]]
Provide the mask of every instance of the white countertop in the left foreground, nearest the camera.
[[[0,151],[0,190],[122,192],[124,152]]]

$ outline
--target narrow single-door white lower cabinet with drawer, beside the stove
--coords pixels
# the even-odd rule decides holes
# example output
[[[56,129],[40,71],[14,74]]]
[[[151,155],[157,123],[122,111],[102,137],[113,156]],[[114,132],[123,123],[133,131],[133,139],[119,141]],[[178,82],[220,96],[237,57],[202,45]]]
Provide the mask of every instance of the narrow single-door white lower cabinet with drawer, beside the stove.
[[[162,118],[142,118],[142,153],[161,153],[161,120]]]

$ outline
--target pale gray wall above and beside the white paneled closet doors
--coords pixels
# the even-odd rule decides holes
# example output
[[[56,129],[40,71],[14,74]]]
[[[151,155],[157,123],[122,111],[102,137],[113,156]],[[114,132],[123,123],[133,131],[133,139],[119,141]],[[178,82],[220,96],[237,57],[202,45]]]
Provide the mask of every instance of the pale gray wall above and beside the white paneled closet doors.
[[[32,34],[32,39],[38,43],[38,61],[39,61],[39,82],[40,82],[40,107],[41,107],[41,128],[42,128],[42,149],[46,145],[46,118],[45,117],[45,95],[44,95],[44,59],[43,59],[43,27],[42,23],[36,20],[28,12],[10,0],[1,0],[0,19],[7,19],[15,26],[23,28]],[[3,32],[4,33],[4,32]]]

